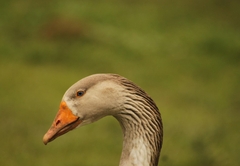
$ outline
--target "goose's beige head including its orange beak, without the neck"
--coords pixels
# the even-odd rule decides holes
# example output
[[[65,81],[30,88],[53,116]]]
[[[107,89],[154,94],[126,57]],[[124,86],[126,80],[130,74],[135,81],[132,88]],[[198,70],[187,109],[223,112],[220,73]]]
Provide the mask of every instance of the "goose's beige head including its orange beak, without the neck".
[[[63,95],[59,111],[43,137],[44,144],[78,126],[114,116],[123,103],[123,88],[115,77],[118,76],[96,74],[72,85]]]

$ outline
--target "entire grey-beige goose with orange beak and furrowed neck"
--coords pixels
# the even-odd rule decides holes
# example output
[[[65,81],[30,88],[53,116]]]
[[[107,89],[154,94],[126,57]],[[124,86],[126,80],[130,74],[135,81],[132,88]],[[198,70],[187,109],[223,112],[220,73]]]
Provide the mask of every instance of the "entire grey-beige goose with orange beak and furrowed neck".
[[[119,165],[157,166],[163,143],[158,107],[139,86],[117,74],[94,74],[73,84],[63,95],[43,143],[108,115],[123,131]]]

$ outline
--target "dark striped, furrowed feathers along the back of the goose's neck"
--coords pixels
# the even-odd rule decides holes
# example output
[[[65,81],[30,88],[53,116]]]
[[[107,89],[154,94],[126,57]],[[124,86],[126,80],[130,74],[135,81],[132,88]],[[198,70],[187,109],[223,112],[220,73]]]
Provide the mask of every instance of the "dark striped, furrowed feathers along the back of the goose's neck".
[[[152,151],[150,164],[157,166],[163,142],[163,125],[158,107],[152,98],[133,82],[118,75],[112,76],[124,86],[126,94],[125,109],[116,118],[120,123],[126,119],[127,123],[134,126],[133,128],[139,128],[137,136],[144,135],[145,141],[149,143]]]

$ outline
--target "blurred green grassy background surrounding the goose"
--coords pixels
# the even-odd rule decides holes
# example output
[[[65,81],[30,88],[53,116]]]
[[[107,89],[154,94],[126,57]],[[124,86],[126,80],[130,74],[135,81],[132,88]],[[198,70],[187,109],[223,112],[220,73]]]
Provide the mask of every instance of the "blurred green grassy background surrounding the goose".
[[[240,165],[239,0],[8,0],[0,5],[0,165],[118,165],[104,118],[43,145],[62,95],[94,73],[148,92],[161,166]]]

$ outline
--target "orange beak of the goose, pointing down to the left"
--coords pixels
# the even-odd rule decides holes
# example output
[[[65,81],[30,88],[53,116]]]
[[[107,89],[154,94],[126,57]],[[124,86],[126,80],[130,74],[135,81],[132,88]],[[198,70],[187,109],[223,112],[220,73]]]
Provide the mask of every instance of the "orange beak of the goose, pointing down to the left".
[[[48,142],[76,128],[80,123],[79,117],[73,115],[67,104],[62,101],[52,126],[43,137],[43,143],[47,145]]]

